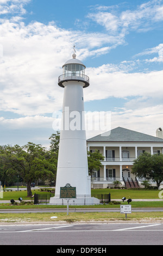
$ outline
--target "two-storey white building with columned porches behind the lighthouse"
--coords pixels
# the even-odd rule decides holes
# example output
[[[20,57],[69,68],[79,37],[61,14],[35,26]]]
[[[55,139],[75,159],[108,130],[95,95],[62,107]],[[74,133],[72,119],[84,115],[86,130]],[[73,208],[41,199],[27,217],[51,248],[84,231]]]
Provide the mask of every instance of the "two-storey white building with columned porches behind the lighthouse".
[[[87,139],[87,150],[93,152],[97,149],[104,156],[102,168],[95,171],[91,178],[91,187],[114,187],[115,180],[124,187],[140,186],[142,180],[131,174],[133,161],[144,151],[163,153],[162,129],[156,130],[157,137],[122,127],[112,129],[109,134],[106,132]]]

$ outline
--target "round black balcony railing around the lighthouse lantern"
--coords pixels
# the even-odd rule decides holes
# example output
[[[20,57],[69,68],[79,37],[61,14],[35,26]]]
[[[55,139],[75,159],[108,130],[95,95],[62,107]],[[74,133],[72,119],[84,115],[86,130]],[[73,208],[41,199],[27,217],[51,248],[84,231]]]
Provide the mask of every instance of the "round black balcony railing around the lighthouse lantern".
[[[63,82],[67,82],[67,81],[78,81],[78,82],[84,82],[85,86],[87,87],[90,85],[89,82],[89,77],[83,74],[76,74],[76,73],[68,73],[68,74],[63,74],[61,76],[59,76],[58,78],[58,85],[61,87],[64,87],[62,85]]]

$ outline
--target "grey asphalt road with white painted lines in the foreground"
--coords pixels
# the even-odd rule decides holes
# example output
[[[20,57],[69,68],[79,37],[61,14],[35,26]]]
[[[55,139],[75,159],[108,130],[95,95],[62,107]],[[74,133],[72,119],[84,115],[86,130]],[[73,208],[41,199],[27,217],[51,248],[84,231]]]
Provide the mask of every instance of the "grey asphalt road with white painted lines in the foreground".
[[[72,255],[85,248],[109,253],[108,245],[163,245],[162,237],[163,223],[0,225],[0,245],[55,245],[53,253],[68,248]]]

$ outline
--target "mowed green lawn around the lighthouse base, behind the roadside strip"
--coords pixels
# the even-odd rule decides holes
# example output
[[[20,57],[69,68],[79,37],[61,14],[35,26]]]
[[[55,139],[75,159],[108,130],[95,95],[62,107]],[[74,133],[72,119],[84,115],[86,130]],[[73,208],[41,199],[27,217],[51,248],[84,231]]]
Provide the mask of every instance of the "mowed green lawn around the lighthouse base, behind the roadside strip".
[[[40,191],[40,190],[32,190],[33,194],[49,194],[49,192]],[[96,189],[92,190],[92,196],[96,197],[96,194],[101,193],[110,193],[111,200],[113,199],[121,199],[122,197],[131,198],[131,205],[134,208],[162,208],[163,207],[163,199],[161,202],[134,202],[134,199],[158,199],[158,194],[160,190],[118,190],[118,189]],[[19,197],[22,197],[24,201],[29,200],[27,197],[27,191],[5,191],[3,192],[3,198],[0,200],[9,200],[14,199],[18,200]],[[122,201],[121,201],[122,203]],[[124,202],[127,204],[127,202]],[[90,205],[90,206],[70,206],[70,208],[119,208],[120,205]],[[10,205],[10,204],[0,204],[0,209],[36,209],[36,208],[66,208],[66,206],[62,205]]]

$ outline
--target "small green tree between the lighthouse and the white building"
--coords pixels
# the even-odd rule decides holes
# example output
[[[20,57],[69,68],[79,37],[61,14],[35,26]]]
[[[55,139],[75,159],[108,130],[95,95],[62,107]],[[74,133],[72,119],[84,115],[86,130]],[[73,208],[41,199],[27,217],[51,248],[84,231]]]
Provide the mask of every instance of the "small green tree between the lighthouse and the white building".
[[[102,167],[101,161],[104,161],[104,156],[97,149],[95,152],[87,151],[87,155],[89,174],[92,175],[93,171]]]

